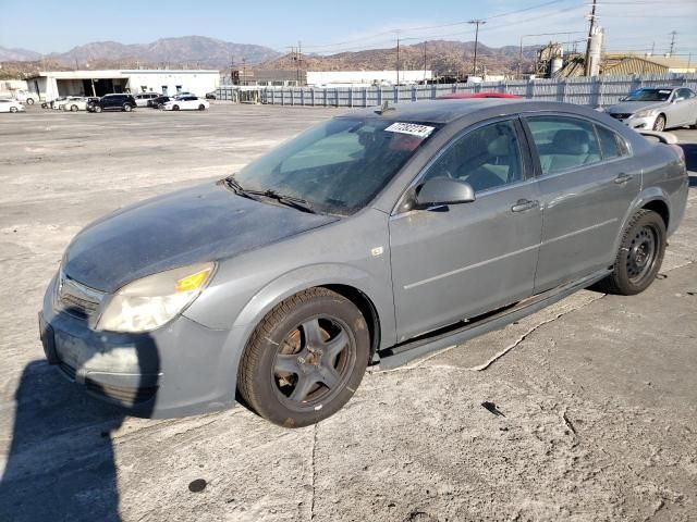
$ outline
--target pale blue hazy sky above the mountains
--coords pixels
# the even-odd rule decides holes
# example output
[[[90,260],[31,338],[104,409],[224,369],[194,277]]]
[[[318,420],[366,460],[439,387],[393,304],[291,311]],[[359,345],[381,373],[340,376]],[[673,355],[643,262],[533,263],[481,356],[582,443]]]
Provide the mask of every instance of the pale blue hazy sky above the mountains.
[[[339,52],[392,47],[395,29],[405,44],[424,39],[473,40],[466,22],[485,18],[479,38],[489,46],[583,40],[592,0],[168,0],[54,2],[0,0],[0,46],[64,52],[90,41],[144,44],[162,37],[201,35],[284,51]],[[606,49],[665,52],[672,30],[675,52],[697,60],[697,0],[598,0]],[[528,8],[533,8],[526,10]],[[526,10],[526,11],[522,11]],[[518,12],[515,12],[518,11]],[[511,14],[506,14],[511,13]],[[578,44],[583,46],[582,42]]]

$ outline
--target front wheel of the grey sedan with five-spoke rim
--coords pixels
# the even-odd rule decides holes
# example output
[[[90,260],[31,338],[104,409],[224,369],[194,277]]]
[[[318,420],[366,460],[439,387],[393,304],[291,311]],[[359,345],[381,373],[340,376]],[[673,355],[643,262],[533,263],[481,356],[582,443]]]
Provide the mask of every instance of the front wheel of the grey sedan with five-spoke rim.
[[[369,355],[360,311],[339,294],[310,288],[259,323],[240,363],[237,389],[249,408],[272,423],[307,426],[351,399]]]

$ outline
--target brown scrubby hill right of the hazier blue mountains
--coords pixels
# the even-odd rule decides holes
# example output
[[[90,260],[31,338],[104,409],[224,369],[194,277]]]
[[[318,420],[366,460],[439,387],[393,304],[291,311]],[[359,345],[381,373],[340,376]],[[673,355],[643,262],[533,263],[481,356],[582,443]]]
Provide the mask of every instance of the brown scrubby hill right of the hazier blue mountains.
[[[424,45],[426,46],[426,69],[436,74],[470,73],[474,65],[474,41],[430,40],[413,46],[400,48],[400,69],[424,69]],[[531,62],[537,47],[524,47],[524,63]],[[396,50],[369,49],[357,52],[340,52],[331,55],[302,55],[302,66],[307,71],[360,71],[360,70],[394,70],[396,67]],[[514,73],[519,61],[519,48],[515,46],[488,47],[479,44],[477,48],[477,64],[486,67],[489,74]],[[285,54],[274,60],[261,63],[259,69],[296,67],[293,54]],[[525,65],[524,65],[525,69]],[[479,70],[479,72],[481,72]]]

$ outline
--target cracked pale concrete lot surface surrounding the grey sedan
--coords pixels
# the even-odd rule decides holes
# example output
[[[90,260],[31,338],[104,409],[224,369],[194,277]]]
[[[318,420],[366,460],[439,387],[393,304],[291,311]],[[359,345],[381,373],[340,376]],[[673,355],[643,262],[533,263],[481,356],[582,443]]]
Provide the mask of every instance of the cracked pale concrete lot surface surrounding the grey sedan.
[[[48,366],[36,313],[80,228],[222,177],[339,112],[0,117],[0,520],[695,520],[697,188],[646,293],[585,290],[375,368],[317,426],[283,430],[240,407],[124,417]],[[675,135],[697,186],[697,132]]]

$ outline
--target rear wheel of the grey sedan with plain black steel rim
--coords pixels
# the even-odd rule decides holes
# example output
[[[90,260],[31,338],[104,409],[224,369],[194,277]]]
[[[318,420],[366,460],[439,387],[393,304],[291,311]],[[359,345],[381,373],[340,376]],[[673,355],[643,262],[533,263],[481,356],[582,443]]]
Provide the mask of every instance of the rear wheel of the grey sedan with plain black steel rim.
[[[663,219],[652,210],[639,210],[624,228],[612,273],[596,289],[620,296],[646,290],[661,269],[664,253]]]

